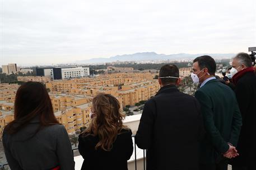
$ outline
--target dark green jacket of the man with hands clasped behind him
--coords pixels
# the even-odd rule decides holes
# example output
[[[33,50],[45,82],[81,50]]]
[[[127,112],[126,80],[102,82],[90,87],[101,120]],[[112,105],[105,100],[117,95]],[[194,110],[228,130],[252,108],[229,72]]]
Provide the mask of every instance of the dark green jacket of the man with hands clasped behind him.
[[[229,149],[236,146],[242,118],[232,89],[216,79],[199,88],[195,97],[201,104],[206,136],[200,143],[200,163],[219,163]]]

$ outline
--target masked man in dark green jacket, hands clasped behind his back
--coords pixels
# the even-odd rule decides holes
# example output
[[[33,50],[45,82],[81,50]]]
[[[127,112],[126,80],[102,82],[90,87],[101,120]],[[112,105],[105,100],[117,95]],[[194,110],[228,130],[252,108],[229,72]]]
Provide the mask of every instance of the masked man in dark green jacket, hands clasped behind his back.
[[[201,104],[206,130],[199,146],[199,167],[202,170],[227,169],[227,158],[238,155],[235,147],[242,125],[234,92],[217,81],[215,72],[216,63],[211,56],[194,59],[191,77],[194,83],[201,84],[195,97]]]

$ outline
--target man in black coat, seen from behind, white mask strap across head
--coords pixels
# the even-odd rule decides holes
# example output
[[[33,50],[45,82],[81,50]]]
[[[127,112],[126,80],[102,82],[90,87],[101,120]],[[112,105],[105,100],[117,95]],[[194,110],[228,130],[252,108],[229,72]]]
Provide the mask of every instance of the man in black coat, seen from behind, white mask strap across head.
[[[196,98],[179,92],[179,69],[160,69],[160,90],[144,106],[135,137],[147,149],[147,170],[197,170],[198,141],[203,135],[200,106]]]

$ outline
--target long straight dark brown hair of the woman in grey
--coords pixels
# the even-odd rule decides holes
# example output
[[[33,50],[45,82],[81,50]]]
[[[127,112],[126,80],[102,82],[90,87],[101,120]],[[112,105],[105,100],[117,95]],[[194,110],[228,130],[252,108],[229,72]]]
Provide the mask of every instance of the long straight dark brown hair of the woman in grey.
[[[44,85],[39,82],[26,82],[16,92],[14,120],[6,125],[4,130],[8,134],[15,134],[36,116],[40,119],[40,126],[36,133],[44,126],[59,124]]]

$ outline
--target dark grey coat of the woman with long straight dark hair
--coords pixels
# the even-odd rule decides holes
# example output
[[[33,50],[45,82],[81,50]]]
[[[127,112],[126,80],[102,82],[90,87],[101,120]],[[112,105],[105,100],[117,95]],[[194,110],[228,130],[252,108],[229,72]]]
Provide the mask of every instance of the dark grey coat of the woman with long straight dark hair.
[[[47,126],[32,137],[39,125],[39,119],[35,119],[16,134],[4,131],[3,146],[10,168],[45,170],[60,166],[60,169],[75,169],[71,143],[64,126]]]

